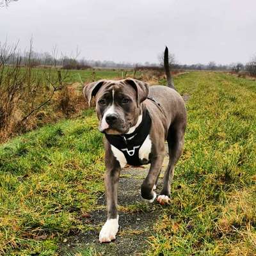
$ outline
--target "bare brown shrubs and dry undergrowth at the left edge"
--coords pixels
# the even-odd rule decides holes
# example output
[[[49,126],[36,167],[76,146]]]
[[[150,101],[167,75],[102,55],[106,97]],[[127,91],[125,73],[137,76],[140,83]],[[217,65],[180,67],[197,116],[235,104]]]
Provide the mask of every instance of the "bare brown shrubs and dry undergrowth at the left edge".
[[[35,68],[44,60],[36,57],[32,45],[20,56],[17,45],[0,43],[0,143],[81,110],[76,105],[81,106],[79,93],[65,89],[71,84],[66,82],[68,70],[61,71],[54,60],[49,67]]]

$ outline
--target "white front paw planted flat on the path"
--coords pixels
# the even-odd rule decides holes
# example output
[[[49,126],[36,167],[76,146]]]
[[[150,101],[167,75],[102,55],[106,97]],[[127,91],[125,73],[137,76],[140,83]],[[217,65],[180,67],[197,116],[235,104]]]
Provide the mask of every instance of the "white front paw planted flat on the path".
[[[100,230],[99,241],[100,243],[111,242],[116,239],[118,232],[118,216],[116,219],[109,219]]]

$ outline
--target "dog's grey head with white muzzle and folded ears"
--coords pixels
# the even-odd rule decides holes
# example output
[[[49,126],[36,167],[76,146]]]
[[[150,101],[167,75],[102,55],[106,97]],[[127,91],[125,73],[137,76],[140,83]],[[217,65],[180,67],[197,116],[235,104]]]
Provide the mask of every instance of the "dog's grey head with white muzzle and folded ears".
[[[95,97],[100,132],[124,134],[141,122],[141,103],[148,97],[148,84],[136,79],[97,81],[84,87],[88,104]]]

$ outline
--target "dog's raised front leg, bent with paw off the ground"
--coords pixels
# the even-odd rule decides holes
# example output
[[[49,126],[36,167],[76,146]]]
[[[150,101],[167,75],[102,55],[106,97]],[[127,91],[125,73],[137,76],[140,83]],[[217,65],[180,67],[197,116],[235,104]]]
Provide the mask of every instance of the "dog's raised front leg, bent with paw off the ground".
[[[158,152],[156,157],[151,159],[151,165],[148,171],[148,175],[141,185],[141,197],[144,200],[152,203],[156,199],[156,192],[154,192],[154,186],[161,172],[161,167],[164,160],[164,149]]]

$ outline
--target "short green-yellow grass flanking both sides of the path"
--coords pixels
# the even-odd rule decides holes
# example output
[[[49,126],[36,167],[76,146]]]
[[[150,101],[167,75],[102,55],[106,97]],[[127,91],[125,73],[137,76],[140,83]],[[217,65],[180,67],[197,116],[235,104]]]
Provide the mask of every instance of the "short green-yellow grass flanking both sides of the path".
[[[255,255],[256,83],[190,72],[175,84],[189,95],[186,143],[146,254]],[[103,154],[93,109],[1,145],[0,252],[58,255],[65,237],[90,229]]]

